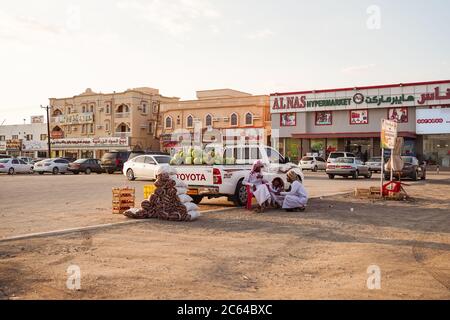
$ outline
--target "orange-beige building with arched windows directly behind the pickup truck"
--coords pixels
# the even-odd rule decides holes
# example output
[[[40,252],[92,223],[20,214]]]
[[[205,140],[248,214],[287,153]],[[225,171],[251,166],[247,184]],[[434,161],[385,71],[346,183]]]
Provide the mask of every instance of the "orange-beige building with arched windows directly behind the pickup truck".
[[[231,89],[197,91],[197,100],[161,104],[161,149],[169,151],[195,134],[202,143],[270,144],[269,96]]]

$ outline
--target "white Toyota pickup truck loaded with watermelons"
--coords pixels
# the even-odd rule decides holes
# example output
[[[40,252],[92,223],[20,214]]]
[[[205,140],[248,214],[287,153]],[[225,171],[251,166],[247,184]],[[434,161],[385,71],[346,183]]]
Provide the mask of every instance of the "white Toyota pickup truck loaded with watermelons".
[[[188,194],[195,203],[204,197],[227,197],[238,206],[247,202],[247,189],[243,180],[250,172],[253,163],[261,160],[264,163],[263,176],[267,181],[280,177],[288,188],[286,172],[295,169],[302,177],[301,168],[289,162],[274,148],[263,145],[231,145],[223,149],[224,158],[234,157],[232,165],[179,165],[173,166],[178,179],[188,185]]]

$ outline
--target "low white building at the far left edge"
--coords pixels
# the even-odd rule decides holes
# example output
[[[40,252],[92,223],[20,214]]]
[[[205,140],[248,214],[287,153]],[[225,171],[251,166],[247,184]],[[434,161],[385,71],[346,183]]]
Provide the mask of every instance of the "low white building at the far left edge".
[[[0,126],[0,153],[45,158],[48,156],[47,148],[46,123]]]

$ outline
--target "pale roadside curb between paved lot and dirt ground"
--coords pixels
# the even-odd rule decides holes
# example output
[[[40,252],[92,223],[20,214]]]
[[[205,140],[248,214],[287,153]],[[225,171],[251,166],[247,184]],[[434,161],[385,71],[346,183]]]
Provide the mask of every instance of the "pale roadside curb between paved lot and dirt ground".
[[[345,195],[345,194],[351,194],[351,193],[352,193],[352,191],[336,192],[336,193],[330,193],[330,194],[325,194],[325,195],[321,195],[321,196],[313,196],[313,197],[310,197],[309,199],[321,199],[321,198],[327,198],[327,197],[333,197],[333,196]],[[238,207],[220,208],[220,209],[200,211],[200,214],[222,213],[222,212],[228,212],[228,211],[239,210],[239,209],[243,209],[243,208],[238,208]],[[96,231],[96,230],[101,230],[101,229],[110,229],[110,228],[115,228],[115,227],[145,223],[145,222],[149,222],[149,221],[151,221],[151,219],[129,220],[129,221],[123,221],[123,222],[116,222],[116,223],[98,224],[98,225],[86,226],[86,227],[29,233],[29,234],[23,234],[23,235],[18,235],[18,236],[1,238],[0,244],[6,243],[6,242],[12,242],[12,241],[19,241],[19,240],[63,236],[63,235],[71,234],[71,233],[79,233],[79,232],[84,232],[84,231]]]

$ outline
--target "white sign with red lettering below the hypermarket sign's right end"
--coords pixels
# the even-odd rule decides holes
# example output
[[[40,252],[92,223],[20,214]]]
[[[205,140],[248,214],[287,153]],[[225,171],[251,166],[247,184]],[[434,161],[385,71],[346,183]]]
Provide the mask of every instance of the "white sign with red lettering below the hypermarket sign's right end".
[[[450,133],[450,108],[416,109],[416,133]]]

